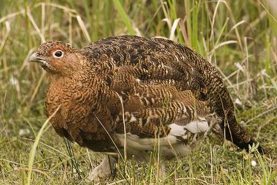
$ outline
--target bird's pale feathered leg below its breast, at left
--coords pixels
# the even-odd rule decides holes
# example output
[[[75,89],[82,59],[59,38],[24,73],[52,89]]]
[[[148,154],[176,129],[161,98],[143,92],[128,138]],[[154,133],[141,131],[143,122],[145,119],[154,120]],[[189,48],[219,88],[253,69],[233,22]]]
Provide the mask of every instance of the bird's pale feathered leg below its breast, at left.
[[[87,178],[92,181],[110,177],[114,173],[116,162],[117,157],[104,155],[102,162],[91,170]]]

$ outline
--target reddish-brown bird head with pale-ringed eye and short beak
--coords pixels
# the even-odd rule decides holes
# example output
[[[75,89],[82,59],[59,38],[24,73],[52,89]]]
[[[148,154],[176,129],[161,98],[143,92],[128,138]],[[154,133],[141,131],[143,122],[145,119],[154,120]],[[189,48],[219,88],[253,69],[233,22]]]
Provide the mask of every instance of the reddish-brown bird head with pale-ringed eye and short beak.
[[[60,41],[46,42],[39,46],[29,58],[39,63],[51,76],[71,76],[80,70],[83,58],[77,49]]]

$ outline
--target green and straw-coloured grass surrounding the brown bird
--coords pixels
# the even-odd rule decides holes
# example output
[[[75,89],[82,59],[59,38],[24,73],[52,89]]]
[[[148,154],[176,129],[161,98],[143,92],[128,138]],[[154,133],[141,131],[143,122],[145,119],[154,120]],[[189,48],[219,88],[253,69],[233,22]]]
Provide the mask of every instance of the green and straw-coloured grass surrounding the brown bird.
[[[247,154],[211,134],[192,155],[168,161],[163,182],[155,166],[131,160],[102,184],[277,183],[277,14],[266,1],[3,0],[0,6],[0,184],[88,183],[102,156],[69,145],[46,126],[48,76],[27,59],[44,40],[82,48],[123,34],[170,37],[203,55],[222,73],[238,121],[270,155]]]

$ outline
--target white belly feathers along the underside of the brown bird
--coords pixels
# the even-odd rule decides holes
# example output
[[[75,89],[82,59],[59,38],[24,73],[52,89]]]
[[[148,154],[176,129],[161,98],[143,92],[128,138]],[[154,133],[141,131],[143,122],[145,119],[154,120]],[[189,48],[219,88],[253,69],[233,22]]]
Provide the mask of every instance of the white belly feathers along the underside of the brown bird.
[[[210,126],[209,126],[210,125]],[[139,138],[139,136],[126,133],[127,157],[134,157],[138,161],[149,161],[150,152],[158,151],[166,159],[187,155],[196,146],[197,136],[204,136],[211,125],[206,120],[192,121],[186,125],[169,125],[168,136],[162,138]],[[116,134],[121,146],[125,146],[125,134]],[[189,140],[189,141],[188,141]],[[188,143],[186,143],[188,141]],[[124,155],[124,150],[120,151]]]

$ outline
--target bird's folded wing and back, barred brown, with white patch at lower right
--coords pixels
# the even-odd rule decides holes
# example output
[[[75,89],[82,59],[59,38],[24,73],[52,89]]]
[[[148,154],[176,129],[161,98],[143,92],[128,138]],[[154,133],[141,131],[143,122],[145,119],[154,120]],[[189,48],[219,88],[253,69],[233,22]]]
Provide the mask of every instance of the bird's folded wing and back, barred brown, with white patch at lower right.
[[[207,130],[201,118],[211,108],[199,78],[206,62],[196,64],[192,57],[198,55],[190,56],[190,49],[166,39],[120,36],[101,39],[81,52],[111,91],[123,98],[127,132],[165,136],[174,130],[173,123],[194,133]],[[114,116],[115,132],[123,133],[123,116]]]

